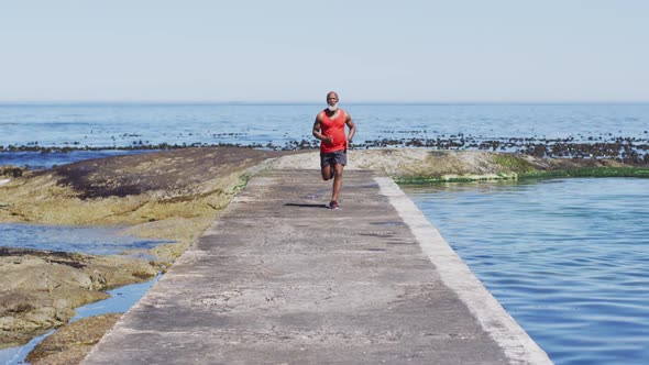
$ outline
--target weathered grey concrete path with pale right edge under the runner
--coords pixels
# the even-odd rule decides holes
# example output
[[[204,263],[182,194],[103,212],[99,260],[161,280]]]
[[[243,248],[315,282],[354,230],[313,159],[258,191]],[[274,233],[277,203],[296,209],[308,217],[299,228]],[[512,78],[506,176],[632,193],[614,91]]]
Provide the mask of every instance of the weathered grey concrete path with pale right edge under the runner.
[[[85,364],[550,364],[389,178],[253,178]]]

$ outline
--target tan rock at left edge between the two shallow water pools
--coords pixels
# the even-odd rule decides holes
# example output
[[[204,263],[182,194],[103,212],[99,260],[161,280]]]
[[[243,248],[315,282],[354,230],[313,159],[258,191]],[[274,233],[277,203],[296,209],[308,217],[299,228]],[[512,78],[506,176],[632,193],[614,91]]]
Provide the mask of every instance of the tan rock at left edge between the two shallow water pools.
[[[160,265],[0,246],[0,349],[67,323],[75,308],[108,298],[102,290],[152,279]]]

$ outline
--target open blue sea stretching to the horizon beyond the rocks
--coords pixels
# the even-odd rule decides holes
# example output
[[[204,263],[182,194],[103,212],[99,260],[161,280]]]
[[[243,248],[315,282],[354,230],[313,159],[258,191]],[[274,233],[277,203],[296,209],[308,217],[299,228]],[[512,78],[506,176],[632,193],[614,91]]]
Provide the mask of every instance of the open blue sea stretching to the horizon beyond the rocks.
[[[136,148],[148,145],[315,145],[322,104],[0,104],[0,146]],[[388,141],[573,143],[619,139],[649,143],[649,104],[349,104],[359,147]],[[383,142],[382,142],[383,141]],[[387,141],[387,142],[386,142]],[[2,148],[0,148],[2,150]],[[516,148],[512,148],[516,151]],[[94,152],[96,154],[96,152]],[[110,152],[101,152],[103,154]],[[116,152],[112,152],[116,153]],[[125,153],[125,152],[117,152]],[[40,162],[40,157],[43,161]],[[46,166],[91,158],[87,151],[48,155],[0,153],[0,165]],[[16,161],[18,159],[18,161]]]

